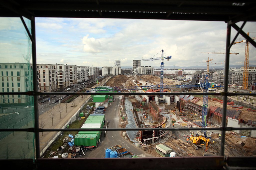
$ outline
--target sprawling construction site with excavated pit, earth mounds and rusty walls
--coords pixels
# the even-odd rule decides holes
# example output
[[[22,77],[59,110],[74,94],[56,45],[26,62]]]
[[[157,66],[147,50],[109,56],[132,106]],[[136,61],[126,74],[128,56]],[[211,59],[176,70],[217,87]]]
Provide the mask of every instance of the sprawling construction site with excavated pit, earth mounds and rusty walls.
[[[163,79],[164,85],[176,88],[164,88],[167,92],[182,92],[184,86],[180,86],[182,81],[171,79]],[[217,156],[220,155],[221,141],[217,130],[191,131],[191,127],[202,126],[202,117],[204,117],[205,96],[196,95],[203,89],[191,89],[195,95],[147,95],[146,92],[154,92],[151,89],[154,85],[160,84],[160,78],[153,75],[142,76],[125,76],[118,75],[110,79],[106,85],[115,86],[122,92],[143,92],[143,95],[125,95],[125,100],[129,100],[132,107],[130,109],[134,115],[136,126],[139,128],[152,128],[152,130],[141,130],[135,134],[127,131],[131,142],[140,141],[147,145],[145,153],[154,157],[163,157],[159,151],[155,151],[155,147],[160,143],[172,149],[176,156]],[[134,87],[138,87],[135,89]],[[178,88],[180,87],[180,88]],[[125,90],[130,89],[130,90]],[[159,90],[158,90],[159,91]],[[215,92],[211,92],[215,93]],[[240,100],[239,100],[240,99]],[[254,96],[248,96],[247,100],[254,101]],[[222,120],[222,96],[207,96],[207,114],[205,119],[205,128],[214,128],[221,126]],[[256,104],[251,102],[252,106]],[[243,105],[244,104],[244,105]],[[126,101],[121,103],[121,108],[125,108]],[[244,96],[228,97],[227,103],[227,127],[255,127],[256,112],[254,108],[249,108],[248,102],[244,100]],[[125,125],[129,124],[129,127]],[[127,121],[123,121],[120,127],[130,128],[131,125]],[[180,127],[187,128],[182,131],[164,130],[164,128]],[[154,130],[154,128],[163,128],[163,130]],[[130,133],[130,134],[129,134]],[[192,138],[201,136],[201,143],[193,143]],[[225,133],[225,156],[255,156],[256,155],[256,135],[252,130],[226,131]],[[187,142],[186,139],[189,139]],[[207,139],[209,139],[207,141]],[[193,144],[198,147],[195,148]]]

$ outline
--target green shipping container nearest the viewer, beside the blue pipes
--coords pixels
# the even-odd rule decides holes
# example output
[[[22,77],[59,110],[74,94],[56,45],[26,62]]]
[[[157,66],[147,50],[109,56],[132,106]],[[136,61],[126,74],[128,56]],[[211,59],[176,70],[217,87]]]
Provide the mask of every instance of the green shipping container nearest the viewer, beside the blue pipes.
[[[76,146],[96,146],[97,145],[97,135],[96,134],[83,134],[76,135],[74,137],[74,145]]]

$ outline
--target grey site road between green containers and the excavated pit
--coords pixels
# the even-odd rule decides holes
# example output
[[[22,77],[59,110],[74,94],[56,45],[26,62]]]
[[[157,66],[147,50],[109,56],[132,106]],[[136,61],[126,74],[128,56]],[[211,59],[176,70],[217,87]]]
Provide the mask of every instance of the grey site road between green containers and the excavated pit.
[[[115,96],[115,102],[111,104],[108,109],[105,111],[105,118],[106,122],[109,122],[108,128],[120,128],[119,127],[119,110],[120,110],[120,100],[122,96],[118,95]],[[85,155],[81,156],[82,158],[104,158],[105,157],[105,150],[108,147],[114,146],[114,145],[122,145],[124,148],[126,148],[128,151],[140,156],[145,157],[149,156],[145,153],[141,148],[142,147],[136,147],[135,143],[131,143],[129,139],[124,139],[122,136],[123,131],[107,131],[106,132],[106,138],[104,138],[104,132],[101,134],[100,143],[96,149],[93,149],[92,151],[85,152]]]

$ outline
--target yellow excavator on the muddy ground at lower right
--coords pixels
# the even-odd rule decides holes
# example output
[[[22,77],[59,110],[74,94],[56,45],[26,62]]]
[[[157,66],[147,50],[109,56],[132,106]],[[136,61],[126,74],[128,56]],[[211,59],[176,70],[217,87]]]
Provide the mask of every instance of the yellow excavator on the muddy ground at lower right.
[[[210,139],[206,138],[204,136],[190,136],[189,143],[191,146],[195,148],[195,150],[198,149],[198,147],[201,147],[205,151],[209,148]]]

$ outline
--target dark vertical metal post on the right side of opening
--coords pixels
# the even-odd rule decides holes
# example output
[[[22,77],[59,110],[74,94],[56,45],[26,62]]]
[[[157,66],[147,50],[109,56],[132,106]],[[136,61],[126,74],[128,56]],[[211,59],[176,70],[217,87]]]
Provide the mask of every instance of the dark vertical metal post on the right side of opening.
[[[224,156],[225,151],[225,129],[226,129],[226,115],[227,115],[227,99],[228,99],[228,69],[229,69],[229,52],[230,52],[230,32],[231,26],[227,25],[227,40],[226,40],[226,64],[224,76],[224,96],[223,96],[223,112],[222,112],[222,130],[221,130],[221,148],[220,155]]]

